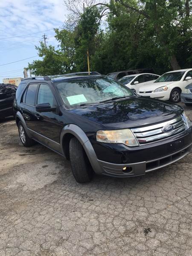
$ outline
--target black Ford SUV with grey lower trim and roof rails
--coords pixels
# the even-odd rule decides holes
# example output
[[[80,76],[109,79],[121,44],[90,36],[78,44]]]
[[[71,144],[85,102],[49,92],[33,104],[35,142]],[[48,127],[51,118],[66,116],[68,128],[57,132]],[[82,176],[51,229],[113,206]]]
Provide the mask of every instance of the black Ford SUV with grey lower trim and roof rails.
[[[192,126],[178,105],[141,97],[98,73],[21,81],[14,102],[20,140],[71,161],[77,182],[93,173],[144,175],[189,153]]]

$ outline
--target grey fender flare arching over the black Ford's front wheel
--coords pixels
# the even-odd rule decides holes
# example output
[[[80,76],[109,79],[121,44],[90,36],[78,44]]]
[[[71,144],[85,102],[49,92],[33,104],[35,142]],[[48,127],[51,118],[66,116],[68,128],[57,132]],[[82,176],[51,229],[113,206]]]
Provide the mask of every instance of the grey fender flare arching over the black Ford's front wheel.
[[[64,149],[63,149],[62,143],[65,143],[64,142],[65,134],[72,134],[74,137],[76,137],[79,140],[79,142],[81,143],[81,145],[84,148],[84,151],[87,154],[87,157],[90,161],[90,164],[91,164],[94,172],[101,174],[102,166],[99,164],[99,161],[97,159],[97,156],[93,149],[93,146],[91,145],[90,140],[88,139],[88,137],[84,133],[84,131],[78,125],[68,124],[68,125],[64,126],[64,128],[61,131],[61,135],[60,135],[62,154],[64,154]]]

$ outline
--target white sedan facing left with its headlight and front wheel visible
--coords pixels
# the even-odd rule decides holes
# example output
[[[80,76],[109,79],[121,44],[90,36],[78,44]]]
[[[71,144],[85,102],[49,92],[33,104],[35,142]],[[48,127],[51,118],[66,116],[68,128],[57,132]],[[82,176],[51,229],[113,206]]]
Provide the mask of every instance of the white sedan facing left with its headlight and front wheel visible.
[[[192,79],[192,69],[174,70],[160,76],[154,83],[140,87],[141,96],[180,102],[181,91]]]

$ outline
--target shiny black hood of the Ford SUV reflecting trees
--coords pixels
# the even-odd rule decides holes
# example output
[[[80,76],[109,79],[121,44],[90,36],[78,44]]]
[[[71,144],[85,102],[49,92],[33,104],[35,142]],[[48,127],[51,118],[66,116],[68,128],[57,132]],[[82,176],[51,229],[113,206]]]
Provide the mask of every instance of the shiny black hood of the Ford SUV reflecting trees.
[[[73,109],[76,113],[109,129],[133,128],[165,122],[183,112],[178,105],[157,99],[135,97]]]

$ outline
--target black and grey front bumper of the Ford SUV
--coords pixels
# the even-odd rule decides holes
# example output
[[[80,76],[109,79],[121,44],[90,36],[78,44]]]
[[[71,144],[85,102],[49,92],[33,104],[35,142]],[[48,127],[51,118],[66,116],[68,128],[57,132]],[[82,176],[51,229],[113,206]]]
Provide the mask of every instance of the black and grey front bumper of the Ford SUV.
[[[109,163],[104,160],[97,160],[100,166],[99,173],[113,177],[134,177],[175,163],[189,154],[192,149],[192,127],[184,132],[183,137],[182,135],[179,138],[177,136],[177,139],[172,137],[172,140],[169,138],[169,142],[165,143],[164,140],[164,143],[158,142],[158,145],[156,143],[150,144],[154,146],[146,148],[142,145],[137,150],[127,152],[128,155],[131,154],[129,160],[132,159],[133,162]],[[125,167],[126,170],[123,170]]]

